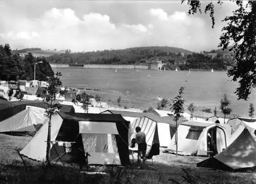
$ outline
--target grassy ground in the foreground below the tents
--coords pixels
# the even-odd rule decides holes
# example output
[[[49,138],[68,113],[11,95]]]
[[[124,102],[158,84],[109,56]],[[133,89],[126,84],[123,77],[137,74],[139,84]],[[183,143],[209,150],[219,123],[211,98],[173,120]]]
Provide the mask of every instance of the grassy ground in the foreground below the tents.
[[[15,149],[22,149],[31,137],[0,134],[0,140],[0,183],[256,183],[253,172],[230,173],[197,168],[196,163],[205,157],[175,156],[162,151],[154,157],[153,165],[148,160],[145,166],[134,163],[126,168],[90,168],[109,173],[108,177],[82,174],[77,165],[70,164],[65,168],[57,164],[45,172],[44,165],[24,158],[26,171]],[[183,176],[189,178],[189,182],[184,181]]]

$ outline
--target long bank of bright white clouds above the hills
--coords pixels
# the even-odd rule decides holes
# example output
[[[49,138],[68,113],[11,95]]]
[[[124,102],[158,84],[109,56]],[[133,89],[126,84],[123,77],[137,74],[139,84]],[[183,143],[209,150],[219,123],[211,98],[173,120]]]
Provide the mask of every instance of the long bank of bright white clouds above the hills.
[[[149,12],[151,16],[147,24],[114,24],[109,15],[91,12],[78,16],[70,8],[52,8],[39,18],[20,16],[8,19],[7,14],[4,21],[0,19],[0,24],[5,28],[0,29],[0,37],[14,47],[22,45],[72,51],[145,45],[195,49],[209,43],[207,26],[202,18],[188,16],[182,11],[170,15],[163,9],[150,9]]]

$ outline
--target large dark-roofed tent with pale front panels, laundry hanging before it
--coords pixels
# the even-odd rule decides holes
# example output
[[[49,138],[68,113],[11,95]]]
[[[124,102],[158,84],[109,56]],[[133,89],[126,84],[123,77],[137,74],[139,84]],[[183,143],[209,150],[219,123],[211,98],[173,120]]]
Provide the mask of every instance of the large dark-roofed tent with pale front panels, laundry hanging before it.
[[[128,127],[119,114],[58,112],[52,117],[51,160],[81,163],[88,152],[90,165],[129,164]],[[46,158],[47,120],[21,154],[36,160]]]

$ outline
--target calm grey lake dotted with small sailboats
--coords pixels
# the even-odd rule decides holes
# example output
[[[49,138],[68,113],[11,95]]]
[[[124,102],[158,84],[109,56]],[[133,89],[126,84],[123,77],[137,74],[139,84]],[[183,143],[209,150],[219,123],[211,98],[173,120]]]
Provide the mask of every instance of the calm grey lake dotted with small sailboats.
[[[234,94],[238,82],[232,82],[226,72],[190,72],[118,70],[86,68],[53,68],[61,72],[61,81],[65,86],[95,86],[106,91],[147,97],[155,100],[158,96],[172,99],[180,86],[185,86],[186,103],[196,106],[219,107],[224,94],[231,100],[233,113],[248,116],[249,103],[256,105],[255,92],[248,101],[237,100]]]

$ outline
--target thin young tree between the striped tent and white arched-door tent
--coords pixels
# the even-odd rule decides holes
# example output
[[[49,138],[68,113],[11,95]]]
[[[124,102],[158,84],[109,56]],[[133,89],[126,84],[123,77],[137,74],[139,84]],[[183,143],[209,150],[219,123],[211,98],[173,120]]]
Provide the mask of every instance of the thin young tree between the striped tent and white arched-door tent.
[[[178,156],[178,120],[181,117],[181,113],[184,112],[184,98],[183,98],[183,90],[184,86],[181,86],[179,89],[178,95],[172,100],[172,104],[170,105],[170,109],[174,111],[174,121],[176,122],[176,134],[175,134],[175,143],[176,143],[176,156]]]

